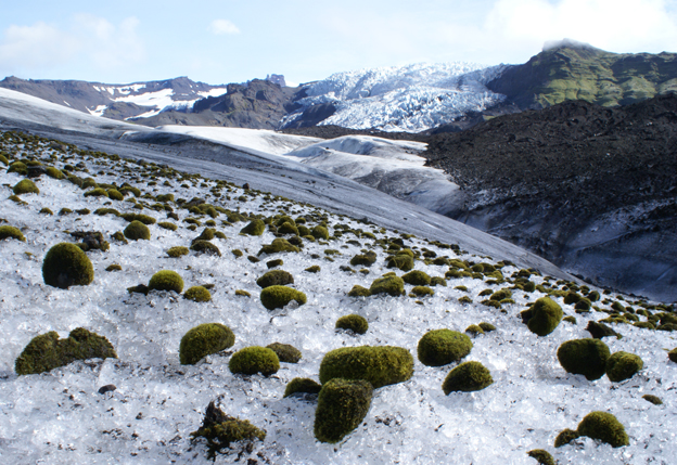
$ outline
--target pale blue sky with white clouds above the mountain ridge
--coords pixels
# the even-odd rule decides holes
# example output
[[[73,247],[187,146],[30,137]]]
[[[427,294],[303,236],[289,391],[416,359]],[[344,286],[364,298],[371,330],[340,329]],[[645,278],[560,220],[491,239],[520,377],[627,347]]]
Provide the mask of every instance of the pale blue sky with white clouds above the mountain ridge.
[[[411,63],[526,62],[570,38],[677,52],[677,0],[3,2],[0,78],[288,82]]]

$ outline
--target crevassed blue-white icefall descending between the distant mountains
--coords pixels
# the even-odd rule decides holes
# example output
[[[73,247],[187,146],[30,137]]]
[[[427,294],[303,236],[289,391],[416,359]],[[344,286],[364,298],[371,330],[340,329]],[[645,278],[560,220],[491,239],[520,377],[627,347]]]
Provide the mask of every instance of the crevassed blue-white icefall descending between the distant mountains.
[[[288,115],[291,122],[309,106],[333,103],[336,112],[320,125],[420,132],[450,122],[468,112],[500,103],[504,95],[486,83],[504,66],[472,63],[419,63],[401,67],[337,73],[306,87],[303,105]]]

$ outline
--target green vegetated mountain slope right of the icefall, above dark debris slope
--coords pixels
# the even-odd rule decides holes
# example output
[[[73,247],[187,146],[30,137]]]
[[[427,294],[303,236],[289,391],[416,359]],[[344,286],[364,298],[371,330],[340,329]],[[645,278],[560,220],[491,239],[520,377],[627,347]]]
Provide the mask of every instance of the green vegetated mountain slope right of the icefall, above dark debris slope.
[[[618,54],[590,46],[560,47],[508,68],[487,87],[523,109],[566,100],[627,105],[677,91],[677,54]]]

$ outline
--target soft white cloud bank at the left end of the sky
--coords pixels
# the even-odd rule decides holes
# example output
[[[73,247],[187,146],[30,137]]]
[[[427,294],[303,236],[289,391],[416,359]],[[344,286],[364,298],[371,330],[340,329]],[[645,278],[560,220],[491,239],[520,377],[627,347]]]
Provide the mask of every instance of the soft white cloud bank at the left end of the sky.
[[[68,26],[38,22],[8,27],[0,42],[0,70],[31,74],[74,65],[111,69],[145,57],[137,35],[139,20],[133,16],[115,26],[102,17],[80,14]]]

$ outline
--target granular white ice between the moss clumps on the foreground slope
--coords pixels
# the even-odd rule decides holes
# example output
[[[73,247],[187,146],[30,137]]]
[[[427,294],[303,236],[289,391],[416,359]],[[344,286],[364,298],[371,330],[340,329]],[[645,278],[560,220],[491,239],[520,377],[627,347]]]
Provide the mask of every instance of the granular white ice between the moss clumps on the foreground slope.
[[[23,146],[16,153],[36,155],[42,163],[63,169],[80,157],[64,159],[63,155],[42,145],[27,153]],[[55,158],[51,158],[54,155]],[[293,218],[327,217],[330,233],[338,224],[352,230],[362,229],[376,238],[399,237],[393,230],[367,225],[347,217],[301,205],[264,193],[246,194],[233,185],[216,196],[216,182],[192,178],[178,180],[157,176],[151,184],[143,173],[157,167],[140,166],[128,160],[112,162],[85,155],[81,159],[88,172],[99,183],[129,182],[142,194],[174,193],[190,199],[194,196],[230,210],[279,214]],[[677,364],[669,362],[666,349],[676,344],[674,333],[650,331],[631,325],[614,325],[623,338],[605,338],[612,352],[636,353],[644,369],[633,378],[612,384],[606,377],[588,382],[571,375],[558,363],[558,347],[570,339],[589,337],[585,331],[590,320],[605,313],[577,314],[573,306],[558,302],[564,313],[577,323],[562,322],[547,337],[531,333],[519,317],[541,294],[513,290],[515,303],[503,306],[504,312],[480,301],[485,288],[497,290],[509,286],[493,285],[481,279],[461,277],[436,286],[435,295],[421,299],[410,297],[347,297],[356,284],[370,283],[391,269],[385,268],[385,250],[368,236],[344,234],[322,242],[305,242],[298,254],[263,256],[251,262],[263,244],[274,236],[239,235],[245,224],[223,223],[216,218],[217,230],[226,240],[215,238],[222,257],[191,253],[182,258],[169,258],[171,246],[188,246],[197,236],[183,220],[192,216],[174,206],[179,216],[178,230],[167,231],[150,225],[151,241],[130,241],[128,245],[111,240],[126,222],[115,216],[93,214],[44,215],[50,208],[72,210],[100,207],[119,211],[143,212],[158,221],[168,221],[166,212],[149,208],[132,209],[133,202],[113,202],[105,197],[85,197],[84,191],[67,180],[42,176],[37,180],[39,194],[22,195],[26,205],[8,199],[10,186],[23,177],[0,170],[0,217],[17,227],[27,242],[0,242],[0,458],[3,463],[210,463],[203,444],[191,444],[189,435],[201,425],[206,405],[219,399],[227,414],[246,418],[267,431],[263,443],[256,443],[251,454],[217,456],[217,463],[240,458],[248,463],[271,464],[529,464],[534,458],[526,452],[546,449],[560,464],[674,464],[677,456]],[[181,186],[183,184],[184,186]],[[245,195],[246,194],[246,195]],[[245,195],[244,198],[241,196]],[[150,201],[153,202],[153,201]],[[110,204],[110,205],[108,205]],[[209,218],[202,218],[201,221]],[[108,251],[90,251],[94,281],[88,286],[59,289],[43,284],[41,264],[46,251],[54,244],[73,242],[64,231],[101,231],[111,241]],[[417,237],[404,237],[416,251],[423,247],[437,256],[470,261],[511,260],[514,257],[477,257],[458,254]],[[245,257],[235,258],[231,250],[241,249]],[[368,274],[341,269],[362,249],[373,249],[378,261]],[[337,250],[338,255],[328,255]],[[329,260],[329,258],[333,258]],[[258,298],[256,279],[267,271],[266,261],[281,258],[281,269],[294,275],[295,288],[306,293],[307,303],[282,310],[266,310]],[[105,269],[118,263],[122,271]],[[317,274],[304,270],[318,264]],[[186,287],[214,284],[213,300],[197,303],[174,293],[152,292],[148,296],[129,294],[126,288],[148,280],[158,270],[177,271]],[[444,276],[448,267],[425,264],[417,260],[416,269],[432,276]],[[398,270],[395,270],[401,274]],[[502,269],[506,276],[516,267]],[[532,276],[538,284],[546,280]],[[550,280],[554,285],[554,282]],[[465,286],[467,290],[457,288]],[[407,290],[411,286],[407,285]],[[252,297],[235,296],[237,289]],[[600,289],[601,290],[601,289]],[[462,303],[461,297],[472,303]],[[617,298],[612,295],[611,297]],[[626,297],[627,298],[627,297]],[[629,298],[628,298],[629,299]],[[345,314],[358,313],[369,321],[363,336],[353,336],[334,330],[335,321]],[[643,317],[641,318],[643,321]],[[242,377],[228,370],[230,352],[208,356],[196,365],[180,365],[179,341],[190,328],[207,322],[227,324],[235,334],[231,350],[279,341],[291,344],[303,352],[297,364],[282,364],[270,377]],[[474,347],[464,360],[483,363],[491,372],[494,384],[477,392],[454,392],[445,396],[442,382],[452,366],[429,367],[416,361],[414,373],[408,382],[385,386],[374,391],[371,408],[363,423],[338,444],[315,440],[312,423],[316,403],[311,399],[282,399],[288,382],[293,377],[317,379],[319,364],[328,351],[359,345],[392,345],[408,349],[416,359],[418,340],[430,330],[450,328],[463,332],[471,324],[488,322],[497,330],[473,339]],[[86,327],[108,340],[118,359],[75,362],[40,375],[16,376],[13,364],[28,341],[49,331],[64,337],[78,326]],[[113,384],[116,390],[104,395],[98,389]],[[641,398],[655,395],[663,405],[653,405]],[[613,449],[609,444],[580,438],[559,449],[552,447],[558,432],[574,429],[591,411],[615,415],[629,435],[628,447]]]

